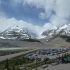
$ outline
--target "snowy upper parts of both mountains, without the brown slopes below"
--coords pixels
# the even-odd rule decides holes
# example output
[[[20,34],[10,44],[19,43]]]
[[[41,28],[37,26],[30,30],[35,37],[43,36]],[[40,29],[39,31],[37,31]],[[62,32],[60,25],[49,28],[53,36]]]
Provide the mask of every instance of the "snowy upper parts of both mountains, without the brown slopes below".
[[[68,25],[64,24],[60,27],[46,30],[42,32],[41,37],[44,38],[57,34],[70,36],[70,24]],[[38,37],[39,35],[36,32],[33,32],[27,28],[20,28],[17,25],[10,27],[0,33],[0,39],[29,39],[29,38],[38,38]]]

